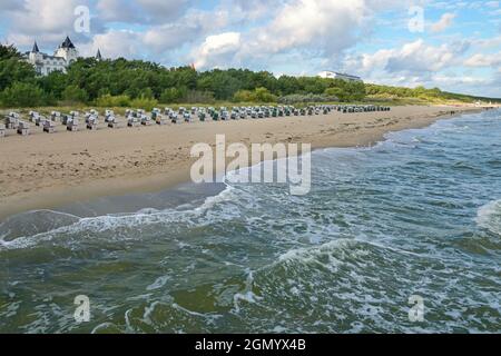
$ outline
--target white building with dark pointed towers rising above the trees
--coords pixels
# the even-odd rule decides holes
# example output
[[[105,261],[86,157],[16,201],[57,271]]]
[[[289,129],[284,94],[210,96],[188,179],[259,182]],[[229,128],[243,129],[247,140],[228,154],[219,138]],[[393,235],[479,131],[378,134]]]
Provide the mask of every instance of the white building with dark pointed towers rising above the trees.
[[[30,52],[24,53],[26,60],[35,67],[38,75],[47,76],[52,71],[59,70],[66,72],[69,65],[78,58],[78,50],[69,37],[56,49],[53,56],[42,53],[38,49],[37,41]],[[101,60],[101,52],[98,50],[97,60]]]

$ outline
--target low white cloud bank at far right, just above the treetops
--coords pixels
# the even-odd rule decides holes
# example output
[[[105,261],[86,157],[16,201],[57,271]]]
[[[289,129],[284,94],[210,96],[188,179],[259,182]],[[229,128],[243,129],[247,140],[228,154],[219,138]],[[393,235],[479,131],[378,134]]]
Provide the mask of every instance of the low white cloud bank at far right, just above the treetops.
[[[493,43],[481,44],[491,48]],[[345,70],[361,75],[367,82],[439,87],[446,91],[499,97],[500,73],[485,75],[464,68],[466,65],[471,68],[490,66],[494,71],[501,66],[501,53],[477,52],[466,57],[470,50],[479,51],[479,46],[470,40],[430,44],[420,39],[374,53],[352,53],[345,58]]]

